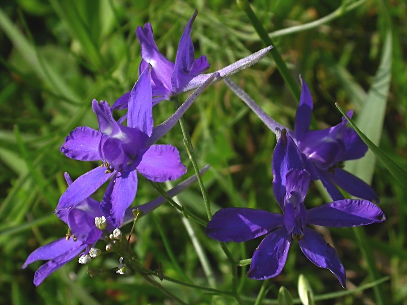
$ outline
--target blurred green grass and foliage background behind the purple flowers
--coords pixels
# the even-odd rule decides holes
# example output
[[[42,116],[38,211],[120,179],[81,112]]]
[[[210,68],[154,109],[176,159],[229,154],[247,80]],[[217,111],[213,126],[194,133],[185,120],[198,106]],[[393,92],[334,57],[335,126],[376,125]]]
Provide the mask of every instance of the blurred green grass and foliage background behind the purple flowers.
[[[234,1],[3,0],[0,6],[0,303],[170,304],[163,293],[138,275],[118,276],[106,271],[91,279],[75,260],[37,288],[32,281],[41,262],[20,269],[32,251],[65,236],[66,225],[52,214],[66,189],[63,173],[76,178],[95,166],[66,158],[59,147],[77,126],[97,129],[92,99],[111,105],[137,80],[141,59],[135,37],[138,25],[151,22],[160,51],[174,60],[179,38],[197,8],[192,32],[195,57],[206,54],[210,72],[264,44]],[[308,83],[319,127],[339,123],[341,114],[335,102],[346,110],[353,108],[357,123],[360,118],[360,129],[369,137],[377,137],[376,143],[384,152],[407,168],[406,3],[253,0],[251,6],[272,33],[290,72],[296,79],[302,74]],[[293,126],[296,101],[271,56],[232,79],[269,115]],[[390,89],[382,90],[387,85]],[[379,95],[370,106],[376,88]],[[173,110],[172,103],[159,104],[154,108],[155,123],[161,123]],[[271,188],[275,136],[223,82],[210,87],[185,119],[199,166],[211,165],[204,180],[213,212],[229,206],[279,212]],[[180,149],[189,176],[193,170],[182,139],[176,126],[161,143]],[[335,246],[346,269],[348,289],[385,276],[389,279],[374,291],[367,289],[318,303],[374,304],[385,300],[386,304],[407,304],[407,193],[381,163],[368,159],[362,167],[348,166],[367,180],[373,174],[372,186],[381,198],[387,220],[364,228],[362,246],[351,228],[322,228],[319,232]],[[144,178],[139,179],[135,205],[157,196]],[[94,197],[101,199],[102,195],[103,190]],[[206,217],[196,186],[178,200]],[[323,202],[312,184],[306,205]],[[164,204],[137,223],[132,247],[146,267],[154,270],[161,262],[165,275],[208,286],[201,258],[181,220],[175,209]],[[230,265],[218,243],[206,237],[202,227],[195,223],[191,227],[205,249],[216,288],[229,289]],[[128,233],[130,227],[123,230]],[[170,249],[163,240],[168,240]],[[251,257],[260,240],[228,246],[235,259],[242,260]],[[103,269],[117,265],[115,255],[104,255],[91,264]],[[256,297],[262,282],[247,279],[246,271],[247,266],[239,267],[239,288],[246,296],[244,300],[253,303],[250,297]],[[282,285],[298,297],[301,273],[315,295],[343,292],[328,270],[310,263],[294,244],[281,275],[267,282],[266,298],[276,299]],[[187,303],[233,303],[227,297],[165,281],[161,284]]]

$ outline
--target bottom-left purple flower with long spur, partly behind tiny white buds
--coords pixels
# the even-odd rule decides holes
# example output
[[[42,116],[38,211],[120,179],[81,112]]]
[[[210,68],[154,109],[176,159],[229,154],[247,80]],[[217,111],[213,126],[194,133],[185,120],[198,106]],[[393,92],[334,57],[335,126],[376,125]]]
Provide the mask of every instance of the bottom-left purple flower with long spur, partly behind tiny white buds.
[[[209,165],[201,169],[200,174],[204,174],[208,168]],[[72,180],[67,173],[65,173],[65,179],[68,186],[70,186]],[[196,175],[189,177],[176,187],[169,190],[167,192],[168,196],[172,197],[179,194],[185,188],[194,184],[196,180]],[[140,210],[142,216],[144,216],[164,202],[166,202],[166,199],[160,196],[146,204],[126,209],[123,225],[133,221],[133,210]],[[27,260],[22,265],[22,268],[26,268],[29,264],[37,260],[48,260],[48,262],[40,266],[35,272],[34,284],[36,286],[40,285],[49,275],[51,275],[51,273],[73,260],[75,257],[88,254],[90,249],[95,246],[98,239],[103,238],[104,232],[110,233],[114,229],[110,216],[104,214],[102,211],[101,203],[92,198],[85,198],[83,201],[69,209],[61,209],[56,215],[68,225],[72,235],[68,239],[67,237],[63,237],[52,241],[47,245],[38,248],[28,256]],[[104,232],[95,226],[95,218],[100,218],[102,216],[106,219],[106,228]],[[108,235],[108,233],[105,234]]]

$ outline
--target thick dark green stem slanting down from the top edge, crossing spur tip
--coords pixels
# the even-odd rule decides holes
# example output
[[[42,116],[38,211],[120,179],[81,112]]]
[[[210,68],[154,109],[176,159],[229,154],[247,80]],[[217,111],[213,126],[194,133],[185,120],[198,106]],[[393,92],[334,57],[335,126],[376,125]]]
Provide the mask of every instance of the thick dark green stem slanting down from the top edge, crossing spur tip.
[[[261,24],[260,20],[258,20],[257,16],[254,14],[247,0],[237,0],[236,2],[238,6],[246,13],[247,17],[250,19],[250,22],[253,24],[253,27],[256,30],[258,36],[260,36],[260,39],[263,40],[263,42],[266,45],[274,46],[274,48],[270,50],[270,54],[273,56],[274,62],[276,63],[276,67],[280,72],[281,76],[283,77],[285,83],[288,85],[288,88],[290,89],[291,93],[293,94],[297,102],[299,102],[301,96],[300,87],[295,81],[293,75],[289,72],[287,65],[285,65],[285,62],[282,59],[280,53],[278,52],[276,45],[274,44],[273,40],[269,37],[269,34],[263,27],[263,24]]]

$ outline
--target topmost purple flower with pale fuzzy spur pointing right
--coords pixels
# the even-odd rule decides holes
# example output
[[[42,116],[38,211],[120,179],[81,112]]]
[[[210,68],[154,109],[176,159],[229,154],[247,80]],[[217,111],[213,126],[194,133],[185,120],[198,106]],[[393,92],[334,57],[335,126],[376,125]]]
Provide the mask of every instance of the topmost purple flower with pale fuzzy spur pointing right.
[[[141,63],[139,74],[141,74],[148,65],[152,66],[151,81],[153,90],[153,106],[163,100],[170,100],[172,96],[199,87],[205,82],[211,74],[202,74],[210,64],[205,55],[194,59],[194,46],[191,39],[192,24],[198,11],[195,10],[191,19],[189,19],[184,33],[181,36],[175,63],[168,60],[158,50],[154,41],[153,29],[150,23],[144,24],[144,27],[138,26],[136,29],[137,39],[141,46]],[[219,77],[214,81],[219,81],[223,77],[232,75],[242,69],[257,63],[272,48],[269,46],[250,56],[247,56],[238,62],[229,65],[217,72]],[[129,94],[126,93],[116,100],[112,106],[113,109],[125,109],[129,100]]]

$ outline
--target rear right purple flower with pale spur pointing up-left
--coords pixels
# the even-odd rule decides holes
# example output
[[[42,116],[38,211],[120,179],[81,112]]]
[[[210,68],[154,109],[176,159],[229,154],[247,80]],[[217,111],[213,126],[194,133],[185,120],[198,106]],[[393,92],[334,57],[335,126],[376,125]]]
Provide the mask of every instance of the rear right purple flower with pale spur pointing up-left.
[[[266,124],[276,133],[277,129],[286,129],[293,137],[301,151],[305,168],[311,180],[321,179],[333,200],[344,199],[339,186],[349,194],[366,200],[379,202],[379,197],[363,180],[343,170],[343,162],[362,158],[368,149],[362,139],[352,129],[347,127],[347,120],[343,117],[338,125],[323,129],[309,130],[312,113],[312,97],[306,82],[302,80],[302,92],[297,108],[294,131],[277,123],[268,116],[238,85],[230,79],[226,84],[239,96]],[[352,116],[353,111],[347,112]]]

